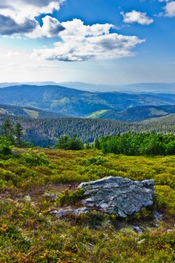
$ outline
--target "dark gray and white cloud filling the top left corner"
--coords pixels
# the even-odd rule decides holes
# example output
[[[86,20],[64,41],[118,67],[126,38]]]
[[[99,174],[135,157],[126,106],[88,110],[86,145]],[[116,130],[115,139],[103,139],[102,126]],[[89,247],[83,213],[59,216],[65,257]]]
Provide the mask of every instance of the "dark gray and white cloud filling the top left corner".
[[[59,10],[60,5],[66,0],[3,0],[0,5],[0,34],[35,34],[28,35],[35,37],[38,32],[39,37],[53,37],[63,30],[59,21],[46,16],[44,25],[41,27],[35,17],[41,14],[51,14],[54,10]],[[43,33],[42,33],[43,30]]]

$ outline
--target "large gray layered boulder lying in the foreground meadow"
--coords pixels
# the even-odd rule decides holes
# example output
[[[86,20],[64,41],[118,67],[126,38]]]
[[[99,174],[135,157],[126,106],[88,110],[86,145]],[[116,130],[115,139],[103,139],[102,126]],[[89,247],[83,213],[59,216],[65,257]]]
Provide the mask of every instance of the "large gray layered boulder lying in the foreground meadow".
[[[120,217],[127,217],[153,204],[154,180],[131,181],[109,176],[98,181],[81,183],[78,188],[85,190],[85,206]]]

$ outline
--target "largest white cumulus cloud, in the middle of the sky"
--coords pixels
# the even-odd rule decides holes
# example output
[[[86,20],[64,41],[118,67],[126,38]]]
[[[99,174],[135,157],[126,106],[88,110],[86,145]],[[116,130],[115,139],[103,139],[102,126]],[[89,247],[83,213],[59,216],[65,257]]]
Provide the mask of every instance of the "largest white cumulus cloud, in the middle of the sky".
[[[35,49],[31,57],[65,62],[81,62],[91,59],[116,59],[133,55],[137,44],[145,40],[136,36],[110,33],[112,24],[86,26],[80,19],[62,23],[66,28],[59,36],[54,48]]]

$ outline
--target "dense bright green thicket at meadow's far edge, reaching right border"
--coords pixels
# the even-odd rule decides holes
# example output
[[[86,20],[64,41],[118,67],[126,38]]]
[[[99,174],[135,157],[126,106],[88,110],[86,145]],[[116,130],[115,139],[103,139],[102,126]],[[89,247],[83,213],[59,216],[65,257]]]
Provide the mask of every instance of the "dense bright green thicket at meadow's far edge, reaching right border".
[[[103,153],[139,155],[175,154],[174,134],[126,133],[115,136],[102,136],[95,140],[95,147]]]

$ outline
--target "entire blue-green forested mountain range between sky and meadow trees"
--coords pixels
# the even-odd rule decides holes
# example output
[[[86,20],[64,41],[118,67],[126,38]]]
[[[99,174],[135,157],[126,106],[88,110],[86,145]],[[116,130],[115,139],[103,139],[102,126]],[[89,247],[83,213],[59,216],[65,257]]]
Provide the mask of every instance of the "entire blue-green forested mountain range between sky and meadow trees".
[[[57,85],[0,89],[0,128],[9,118],[34,145],[77,134],[84,143],[127,131],[174,133],[175,94],[80,91]]]

